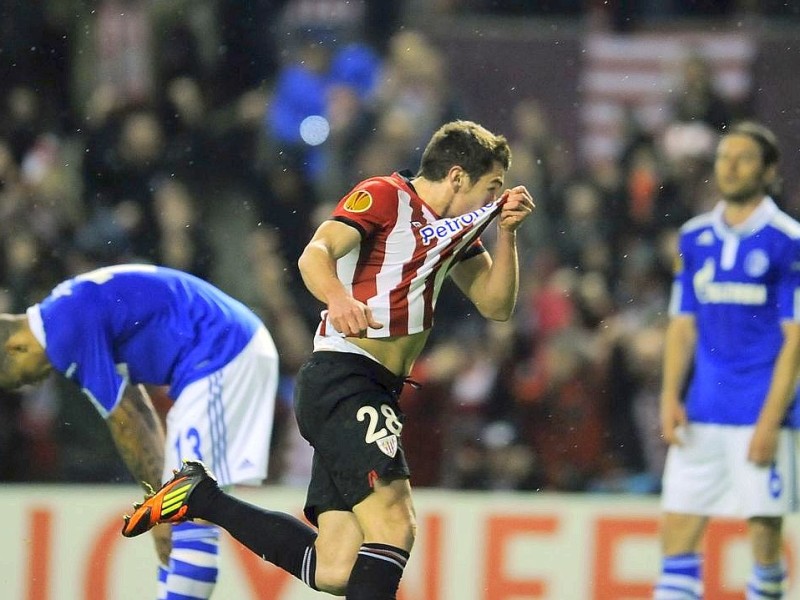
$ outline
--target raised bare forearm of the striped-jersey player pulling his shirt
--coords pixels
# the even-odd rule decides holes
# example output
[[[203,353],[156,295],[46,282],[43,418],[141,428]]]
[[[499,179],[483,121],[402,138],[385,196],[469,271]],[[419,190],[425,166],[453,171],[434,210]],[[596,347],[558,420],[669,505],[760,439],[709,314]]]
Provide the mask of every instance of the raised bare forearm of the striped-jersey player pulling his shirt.
[[[519,260],[516,233],[499,230],[492,266],[478,281],[481,314],[495,321],[506,321],[514,313],[519,294]]]

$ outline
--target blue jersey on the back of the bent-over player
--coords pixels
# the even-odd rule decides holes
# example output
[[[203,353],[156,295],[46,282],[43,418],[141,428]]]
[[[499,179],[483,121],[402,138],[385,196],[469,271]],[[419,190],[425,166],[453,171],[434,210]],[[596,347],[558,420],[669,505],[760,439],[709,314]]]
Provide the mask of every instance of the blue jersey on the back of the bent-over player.
[[[53,368],[107,416],[127,381],[184,387],[235,358],[261,322],[209,283],[174,269],[118,265],[59,284],[28,309]]]

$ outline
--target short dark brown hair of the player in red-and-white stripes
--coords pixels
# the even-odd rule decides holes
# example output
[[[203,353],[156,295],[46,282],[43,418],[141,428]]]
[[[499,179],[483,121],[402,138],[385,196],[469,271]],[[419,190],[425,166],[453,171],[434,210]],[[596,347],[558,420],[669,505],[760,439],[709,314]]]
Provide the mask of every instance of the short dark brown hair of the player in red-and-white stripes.
[[[480,179],[500,163],[511,166],[511,148],[502,135],[495,135],[472,121],[452,121],[442,125],[425,147],[418,175],[440,181],[454,166],[467,172],[471,180]]]

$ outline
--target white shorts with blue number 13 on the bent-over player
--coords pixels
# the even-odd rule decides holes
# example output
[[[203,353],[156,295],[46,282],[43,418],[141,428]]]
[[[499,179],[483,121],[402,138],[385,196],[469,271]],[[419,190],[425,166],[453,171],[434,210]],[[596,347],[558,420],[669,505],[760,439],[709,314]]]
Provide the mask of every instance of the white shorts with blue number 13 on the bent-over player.
[[[260,484],[278,377],[278,351],[262,327],[225,367],[186,386],[167,412],[164,481],[186,459],[203,461],[220,486]]]

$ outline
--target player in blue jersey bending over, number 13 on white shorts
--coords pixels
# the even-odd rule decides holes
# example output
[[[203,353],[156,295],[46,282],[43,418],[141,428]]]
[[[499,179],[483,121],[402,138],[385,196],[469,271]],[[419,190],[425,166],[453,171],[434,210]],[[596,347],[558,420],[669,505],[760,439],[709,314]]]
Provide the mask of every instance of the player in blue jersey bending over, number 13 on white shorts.
[[[209,283],[152,265],[98,269],[61,283],[24,315],[0,315],[0,340],[0,387],[52,370],[74,381],[146,488],[184,459],[206,461],[223,486],[266,477],[278,354],[256,315]],[[169,386],[166,432],[143,383]],[[219,528],[154,532],[159,600],[210,598]]]

